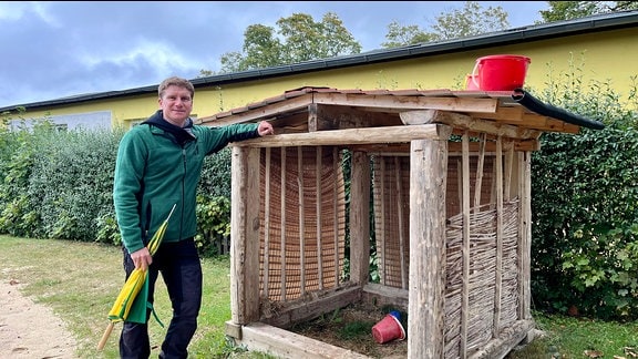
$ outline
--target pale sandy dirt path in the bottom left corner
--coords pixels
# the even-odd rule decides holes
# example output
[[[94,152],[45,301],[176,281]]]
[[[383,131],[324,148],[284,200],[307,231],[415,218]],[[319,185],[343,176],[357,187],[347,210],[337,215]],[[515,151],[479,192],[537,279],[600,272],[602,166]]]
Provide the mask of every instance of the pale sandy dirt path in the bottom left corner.
[[[23,297],[16,280],[0,281],[0,358],[78,358],[62,319]]]

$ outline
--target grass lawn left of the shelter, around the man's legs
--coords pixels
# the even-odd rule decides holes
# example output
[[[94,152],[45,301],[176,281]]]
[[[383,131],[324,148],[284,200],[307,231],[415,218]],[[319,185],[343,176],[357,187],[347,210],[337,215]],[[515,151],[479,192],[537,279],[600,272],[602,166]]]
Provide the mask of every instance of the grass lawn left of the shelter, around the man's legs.
[[[0,236],[0,279],[17,279],[23,295],[50,306],[75,334],[82,358],[119,358],[122,324],[116,322],[104,349],[96,346],[109,325],[107,315],[124,285],[122,250],[114,246],[69,240],[24,239]],[[204,300],[199,327],[191,343],[192,358],[225,358],[224,322],[230,319],[229,259],[204,259]],[[171,304],[162,279],[155,290],[155,311],[167,327]],[[165,334],[154,319],[148,324],[151,345]],[[157,348],[152,356],[157,357]]]

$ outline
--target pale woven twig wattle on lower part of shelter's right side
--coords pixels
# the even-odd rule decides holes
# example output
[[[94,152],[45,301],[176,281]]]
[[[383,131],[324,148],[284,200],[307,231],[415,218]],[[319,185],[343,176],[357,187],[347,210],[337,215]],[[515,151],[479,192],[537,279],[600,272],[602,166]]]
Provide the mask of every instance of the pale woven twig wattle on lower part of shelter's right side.
[[[449,218],[446,230],[446,283],[445,283],[445,358],[461,357],[462,312],[466,312],[467,352],[484,347],[494,334],[494,316],[501,314],[500,328],[516,320],[518,308],[518,202],[503,206],[503,238],[501,265],[501,307],[495,310],[496,293],[496,211],[490,205],[478,208],[470,216],[469,277],[463,271],[463,216]],[[463,284],[467,288],[467,307],[463,308]]]

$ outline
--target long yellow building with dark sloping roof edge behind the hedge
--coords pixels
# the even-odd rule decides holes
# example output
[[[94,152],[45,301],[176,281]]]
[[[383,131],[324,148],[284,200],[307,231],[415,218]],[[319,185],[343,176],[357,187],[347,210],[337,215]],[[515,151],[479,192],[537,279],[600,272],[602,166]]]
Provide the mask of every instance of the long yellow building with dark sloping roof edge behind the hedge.
[[[195,117],[276,96],[302,86],[335,89],[462,90],[476,59],[519,54],[531,59],[525,89],[538,94],[549,82],[572,73],[584,83],[609,83],[627,98],[638,74],[638,11],[615,12],[570,21],[528,25],[476,37],[382,49],[268,69],[193,79]],[[125,127],[157,110],[157,86],[80,94],[16,104],[0,113],[25,119],[48,116],[68,126]]]

